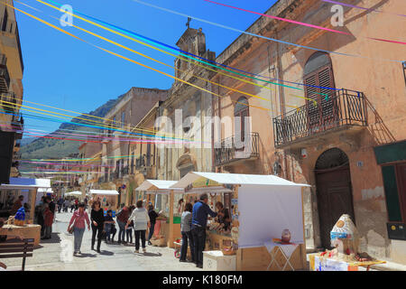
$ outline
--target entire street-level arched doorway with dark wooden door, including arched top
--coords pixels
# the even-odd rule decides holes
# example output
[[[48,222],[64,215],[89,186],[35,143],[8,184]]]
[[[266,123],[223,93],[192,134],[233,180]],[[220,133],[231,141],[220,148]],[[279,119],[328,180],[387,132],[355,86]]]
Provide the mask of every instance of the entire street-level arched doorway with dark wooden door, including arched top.
[[[315,165],[321,246],[330,248],[330,231],[337,219],[354,219],[348,156],[338,148],[320,154]]]

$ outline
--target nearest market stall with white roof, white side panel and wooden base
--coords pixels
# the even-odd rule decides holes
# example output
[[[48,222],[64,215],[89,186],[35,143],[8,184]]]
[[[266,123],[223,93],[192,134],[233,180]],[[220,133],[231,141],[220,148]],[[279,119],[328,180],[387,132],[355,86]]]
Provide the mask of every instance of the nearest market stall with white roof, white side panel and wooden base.
[[[284,255],[281,261],[285,258],[284,262],[279,262],[284,265],[281,268],[276,266],[276,269],[306,269],[303,188],[309,185],[290,182],[275,175],[189,172],[172,187],[185,189],[185,194],[231,191],[231,250],[236,253],[236,270],[275,269],[269,266],[273,256],[265,245],[272,238],[281,236],[286,228],[291,231],[291,242],[297,246],[294,250],[292,248],[289,257],[281,249],[274,253],[274,257]],[[226,247],[222,251],[229,253],[230,247]]]

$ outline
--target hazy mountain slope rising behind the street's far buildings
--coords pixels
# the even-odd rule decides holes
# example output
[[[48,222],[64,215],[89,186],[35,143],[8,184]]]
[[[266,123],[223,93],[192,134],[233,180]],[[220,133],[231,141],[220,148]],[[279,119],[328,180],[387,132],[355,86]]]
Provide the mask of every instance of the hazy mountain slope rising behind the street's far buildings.
[[[101,107],[97,107],[96,110],[91,111],[88,115],[95,116],[95,117],[106,117],[107,112],[115,106],[115,104],[124,98],[125,95],[121,95],[118,98],[108,100],[104,105]],[[87,117],[84,115],[79,116],[80,118],[85,119],[92,119],[97,120],[97,118]],[[103,121],[100,119],[100,121]],[[70,122],[74,123],[85,123],[84,120],[78,119],[74,117],[70,120]],[[95,123],[95,126],[98,124]],[[87,127],[87,126],[76,126],[69,123],[61,124],[60,127],[51,133],[50,137],[63,137],[64,133],[71,133],[72,131],[81,131],[78,134],[86,135],[84,132],[100,132],[101,129]],[[55,136],[52,136],[55,135]],[[69,138],[69,135],[66,136]],[[21,158],[22,159],[61,159],[64,157],[68,157],[69,155],[78,154],[78,147],[82,142],[77,141],[69,141],[67,139],[52,139],[52,138],[36,138],[36,137],[28,137],[22,139],[21,144]],[[26,166],[26,163],[21,163],[19,169],[23,171],[23,167]]]

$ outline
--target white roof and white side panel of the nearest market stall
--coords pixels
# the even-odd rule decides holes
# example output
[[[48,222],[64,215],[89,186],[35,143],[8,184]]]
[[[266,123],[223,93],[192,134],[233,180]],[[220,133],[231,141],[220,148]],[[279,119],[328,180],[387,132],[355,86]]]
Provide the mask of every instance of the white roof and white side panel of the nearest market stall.
[[[172,187],[186,189],[186,193],[215,192],[225,185],[239,185],[234,216],[240,224],[238,247],[263,247],[272,238],[281,238],[285,228],[291,231],[291,242],[304,243],[301,192],[308,184],[275,175],[189,172]]]

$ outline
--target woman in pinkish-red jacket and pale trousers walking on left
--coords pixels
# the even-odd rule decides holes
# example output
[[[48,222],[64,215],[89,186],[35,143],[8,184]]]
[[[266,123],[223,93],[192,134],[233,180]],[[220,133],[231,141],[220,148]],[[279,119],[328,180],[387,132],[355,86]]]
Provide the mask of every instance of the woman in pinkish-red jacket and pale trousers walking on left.
[[[88,213],[85,211],[85,203],[81,202],[78,204],[78,210],[73,213],[70,219],[68,231],[73,224],[73,242],[74,242],[74,253],[73,256],[80,256],[80,247],[82,245],[83,234],[85,233],[85,221],[88,223],[88,230],[90,230],[90,221],[88,219]]]

